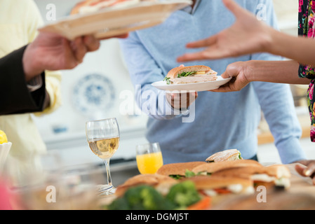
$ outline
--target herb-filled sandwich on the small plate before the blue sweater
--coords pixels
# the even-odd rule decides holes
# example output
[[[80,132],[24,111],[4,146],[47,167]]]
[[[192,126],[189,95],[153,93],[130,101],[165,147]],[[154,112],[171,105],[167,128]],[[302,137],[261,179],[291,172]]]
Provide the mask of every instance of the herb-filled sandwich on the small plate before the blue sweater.
[[[217,72],[204,65],[180,66],[171,69],[164,80],[168,85],[203,83],[217,80]]]

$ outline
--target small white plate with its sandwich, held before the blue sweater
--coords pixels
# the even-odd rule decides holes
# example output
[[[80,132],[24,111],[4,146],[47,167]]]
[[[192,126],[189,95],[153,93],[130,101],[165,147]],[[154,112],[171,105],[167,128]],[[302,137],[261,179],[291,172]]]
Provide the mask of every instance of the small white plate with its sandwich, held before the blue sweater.
[[[181,66],[168,72],[164,80],[152,83],[159,90],[196,91],[216,90],[232,78],[217,76],[217,72],[208,66]]]

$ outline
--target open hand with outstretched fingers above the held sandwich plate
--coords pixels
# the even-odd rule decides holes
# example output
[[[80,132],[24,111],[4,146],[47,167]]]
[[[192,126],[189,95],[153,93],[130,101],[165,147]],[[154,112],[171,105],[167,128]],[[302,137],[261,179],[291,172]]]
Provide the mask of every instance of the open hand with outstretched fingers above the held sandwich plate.
[[[235,1],[222,1],[236,17],[234,25],[209,38],[188,43],[187,48],[206,49],[182,55],[177,58],[177,62],[236,57],[269,50],[274,29],[257,20],[255,15],[241,8]]]

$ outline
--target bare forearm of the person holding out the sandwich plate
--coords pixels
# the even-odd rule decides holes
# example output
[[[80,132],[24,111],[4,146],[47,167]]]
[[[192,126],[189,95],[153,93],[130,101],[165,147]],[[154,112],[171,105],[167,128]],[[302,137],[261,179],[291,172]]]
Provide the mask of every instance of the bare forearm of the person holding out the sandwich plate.
[[[300,78],[296,61],[250,61],[246,66],[246,78],[250,81],[269,83],[309,84],[308,78]]]

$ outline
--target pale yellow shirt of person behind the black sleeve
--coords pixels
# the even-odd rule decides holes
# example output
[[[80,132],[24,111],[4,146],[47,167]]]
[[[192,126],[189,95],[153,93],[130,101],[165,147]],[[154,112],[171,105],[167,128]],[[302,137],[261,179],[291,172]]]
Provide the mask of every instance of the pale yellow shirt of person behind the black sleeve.
[[[43,24],[39,9],[33,0],[0,0],[0,57],[32,42]],[[60,106],[59,72],[46,71],[46,90],[51,105],[36,116],[51,113]],[[0,96],[0,105],[1,105]],[[10,156],[34,155],[46,151],[31,113],[0,116],[0,130],[6,132],[12,142]]]

